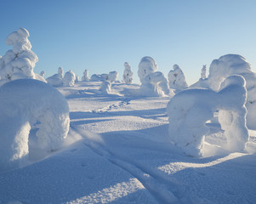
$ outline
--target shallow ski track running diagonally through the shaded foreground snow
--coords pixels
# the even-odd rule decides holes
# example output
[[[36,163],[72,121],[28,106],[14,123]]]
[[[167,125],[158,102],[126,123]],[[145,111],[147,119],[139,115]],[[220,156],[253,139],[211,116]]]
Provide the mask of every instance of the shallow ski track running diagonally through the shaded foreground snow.
[[[177,197],[177,195],[179,195],[178,191],[174,189],[174,186],[179,184],[175,183],[164,174],[157,173],[151,168],[143,167],[135,161],[124,158],[124,156],[117,156],[111,150],[107,150],[105,146],[97,142],[85,139],[83,144],[90,150],[93,150],[97,155],[104,157],[115,166],[122,168],[124,171],[137,178],[159,203],[179,203]],[[174,192],[177,195],[174,195]]]

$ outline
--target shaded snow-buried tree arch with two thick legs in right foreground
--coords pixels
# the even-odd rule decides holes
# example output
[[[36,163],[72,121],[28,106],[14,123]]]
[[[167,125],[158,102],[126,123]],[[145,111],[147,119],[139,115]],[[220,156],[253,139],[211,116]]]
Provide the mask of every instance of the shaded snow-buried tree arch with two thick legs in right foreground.
[[[210,89],[187,89],[174,95],[168,103],[169,139],[190,156],[202,156],[205,122],[219,110],[219,122],[225,130],[230,151],[244,151],[248,140],[245,107],[247,89],[241,76],[225,79],[219,92]]]

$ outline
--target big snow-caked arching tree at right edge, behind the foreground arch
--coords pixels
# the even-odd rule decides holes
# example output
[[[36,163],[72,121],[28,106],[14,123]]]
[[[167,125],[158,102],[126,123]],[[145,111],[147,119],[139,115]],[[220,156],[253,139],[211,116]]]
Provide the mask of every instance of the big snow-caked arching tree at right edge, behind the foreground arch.
[[[219,90],[221,82],[230,75],[241,75],[247,88],[247,127],[256,129],[256,74],[247,60],[238,54],[226,54],[214,59],[209,68],[208,84]]]

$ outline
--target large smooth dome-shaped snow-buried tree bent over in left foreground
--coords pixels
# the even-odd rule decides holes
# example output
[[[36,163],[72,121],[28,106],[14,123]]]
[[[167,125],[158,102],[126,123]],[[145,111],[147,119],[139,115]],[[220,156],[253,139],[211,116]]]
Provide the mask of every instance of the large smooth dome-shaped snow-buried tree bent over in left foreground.
[[[57,150],[69,131],[69,107],[55,88],[19,79],[0,88],[0,170],[20,167],[29,154],[31,126],[40,123],[37,148]]]

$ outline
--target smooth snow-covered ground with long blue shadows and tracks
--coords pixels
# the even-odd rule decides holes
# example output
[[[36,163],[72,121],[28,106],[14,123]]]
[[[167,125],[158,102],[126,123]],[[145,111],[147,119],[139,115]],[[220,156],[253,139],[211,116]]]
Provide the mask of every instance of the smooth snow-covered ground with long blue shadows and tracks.
[[[78,82],[58,88],[70,106],[71,127],[60,150],[33,150],[30,163],[0,173],[0,203],[256,203],[256,132],[248,152],[219,150],[215,120],[207,157],[186,156],[168,142],[170,97],[140,97],[139,85]]]

